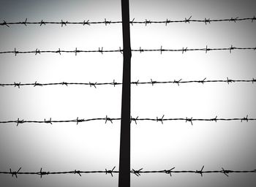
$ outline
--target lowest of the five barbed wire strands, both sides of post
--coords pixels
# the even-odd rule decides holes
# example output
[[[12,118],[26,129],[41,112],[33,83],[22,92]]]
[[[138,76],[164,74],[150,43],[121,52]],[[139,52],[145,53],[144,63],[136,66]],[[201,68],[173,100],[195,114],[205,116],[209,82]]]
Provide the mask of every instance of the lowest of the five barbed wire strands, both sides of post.
[[[42,176],[44,175],[61,175],[61,174],[78,174],[80,175],[80,177],[82,176],[81,174],[88,174],[88,173],[105,173],[105,175],[111,175],[113,177],[114,173],[119,173],[118,171],[115,171],[116,167],[113,167],[113,169],[105,169],[105,170],[99,170],[99,171],[81,171],[81,170],[72,170],[72,171],[64,171],[64,172],[44,172],[42,170],[42,168],[39,170],[39,172],[21,172],[21,167],[17,170],[17,171],[12,171],[12,169],[10,169],[9,172],[4,172],[4,171],[0,171],[0,174],[7,174],[7,175],[12,175],[12,177],[15,176],[15,178],[18,178],[18,175],[39,175],[40,178],[42,178]],[[227,177],[229,177],[229,173],[255,173],[256,169],[253,170],[230,170],[230,169],[224,169],[222,167],[222,169],[220,170],[207,170],[207,171],[203,171],[204,166],[200,169],[200,170],[173,170],[175,169],[175,167],[171,168],[171,169],[164,169],[164,170],[145,170],[143,171],[143,168],[135,170],[132,169],[130,171],[131,174],[134,174],[136,176],[140,176],[140,174],[146,174],[146,173],[163,173],[163,174],[167,174],[172,176],[173,173],[192,173],[192,174],[196,174],[196,175],[200,175],[201,177],[203,177],[203,174],[206,173],[222,173],[224,175],[226,175]]]

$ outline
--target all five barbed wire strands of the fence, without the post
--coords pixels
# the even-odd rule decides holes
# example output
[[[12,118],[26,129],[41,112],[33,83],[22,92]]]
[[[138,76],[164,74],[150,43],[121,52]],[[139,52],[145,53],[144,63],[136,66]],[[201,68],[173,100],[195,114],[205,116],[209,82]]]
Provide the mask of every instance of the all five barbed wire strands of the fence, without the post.
[[[192,17],[185,18],[184,20],[159,20],[159,21],[154,21],[154,20],[143,20],[143,21],[135,21],[135,19],[130,21],[130,24],[133,26],[134,24],[145,24],[147,26],[148,24],[165,24],[167,26],[170,23],[205,23],[206,25],[208,23],[217,23],[217,22],[233,22],[233,23],[239,23],[241,21],[251,21],[252,23],[256,20],[255,16],[253,18],[226,18],[226,19],[202,19],[202,20],[193,20]],[[89,20],[83,20],[82,22],[69,22],[69,21],[44,21],[41,20],[39,22],[29,22],[27,19],[25,21],[21,22],[7,22],[3,21],[0,23],[0,26],[6,26],[8,28],[11,28],[12,25],[20,25],[20,26],[29,26],[29,25],[38,25],[38,26],[45,26],[48,24],[56,24],[62,26],[68,26],[68,25],[81,25],[81,26],[92,26],[94,24],[105,24],[105,26],[109,26],[111,24],[119,24],[122,23],[121,21],[112,21],[112,20],[103,20],[99,22],[94,22],[94,21],[89,21]],[[197,51],[203,51],[205,53],[208,53],[209,51],[219,51],[219,50],[226,50],[229,53],[231,53],[233,50],[256,50],[256,47],[234,47],[231,45],[230,47],[219,47],[219,48],[211,48],[211,47],[203,47],[203,48],[187,48],[187,47],[182,47],[182,49],[165,49],[162,46],[160,48],[156,49],[143,49],[140,47],[139,49],[132,49],[132,52],[158,52],[160,54],[162,53],[167,53],[167,52],[177,52],[177,53],[186,53],[186,52],[197,52]],[[78,53],[123,53],[123,50],[121,47],[119,47],[116,50],[103,50],[103,47],[99,47],[97,50],[79,50],[78,48],[75,48],[75,50],[61,50],[60,48],[58,50],[17,50],[16,48],[14,50],[7,50],[7,51],[1,51],[0,54],[14,54],[15,56],[22,55],[22,54],[32,54],[32,55],[42,55],[43,53],[54,53],[54,54],[59,54],[61,55],[62,53],[74,53],[75,56],[78,55]],[[155,85],[155,84],[174,84],[174,85],[181,85],[181,84],[187,84],[187,83],[255,83],[255,78],[252,78],[252,80],[233,80],[229,79],[227,77],[227,80],[207,80],[206,78],[203,78],[202,80],[182,80],[182,79],[177,79],[177,80],[164,80],[164,81],[157,81],[157,80],[150,80],[148,82],[140,82],[140,80],[131,82],[132,85]],[[91,88],[97,88],[99,85],[110,85],[113,87],[116,87],[116,85],[122,85],[122,83],[117,83],[115,80],[113,80],[112,83],[67,83],[67,82],[62,82],[62,83],[37,83],[35,81],[34,83],[0,83],[1,87],[7,87],[7,86],[14,86],[17,88],[21,88],[23,86],[47,86],[47,85],[88,85]],[[83,122],[89,122],[89,121],[104,121],[105,123],[113,123],[113,121],[120,121],[121,118],[110,118],[108,115],[105,116],[105,118],[76,118],[76,119],[70,119],[70,120],[53,120],[52,118],[50,119],[44,119],[42,121],[29,121],[25,119],[20,119],[18,118],[17,120],[10,120],[10,121],[0,121],[0,123],[15,123],[16,126],[20,126],[23,123],[45,123],[45,124],[54,124],[54,123],[68,123],[68,122],[74,122],[76,125],[83,123]],[[138,124],[139,121],[156,121],[160,123],[164,123],[165,121],[184,121],[184,122],[189,122],[191,125],[193,125],[193,122],[195,121],[208,121],[208,122],[218,122],[218,121],[241,121],[241,122],[249,122],[249,121],[256,121],[256,118],[249,118],[248,115],[246,117],[241,117],[241,118],[218,118],[217,116],[214,116],[214,118],[192,118],[192,117],[186,117],[186,118],[165,118],[165,115],[162,115],[162,117],[157,117],[157,118],[130,118],[130,123],[134,122],[136,125]],[[73,170],[73,171],[64,171],[64,172],[44,172],[42,168],[39,170],[39,172],[22,172],[21,167],[17,171],[13,171],[10,169],[10,171],[4,172],[1,171],[0,174],[6,174],[6,175],[12,175],[12,177],[18,178],[18,175],[39,175],[40,178],[44,175],[61,175],[61,174],[78,174],[82,176],[82,174],[86,173],[103,173],[103,174],[109,174],[113,177],[113,174],[118,173],[118,171],[115,170],[116,167],[113,167],[113,169],[105,169],[102,171],[80,171],[80,170]],[[178,173],[192,173],[196,175],[200,175],[203,177],[203,174],[211,174],[211,173],[221,173],[226,175],[227,177],[229,176],[228,174],[230,173],[255,173],[256,169],[254,170],[230,170],[230,169],[220,169],[220,170],[203,170],[204,166],[200,170],[174,170],[175,167],[172,169],[164,169],[164,170],[154,170],[154,171],[143,171],[143,169],[132,169],[130,171],[131,174],[134,174],[136,176],[140,176],[141,174],[146,174],[146,173],[162,173],[162,174],[167,174],[172,176],[172,174],[178,174]]]

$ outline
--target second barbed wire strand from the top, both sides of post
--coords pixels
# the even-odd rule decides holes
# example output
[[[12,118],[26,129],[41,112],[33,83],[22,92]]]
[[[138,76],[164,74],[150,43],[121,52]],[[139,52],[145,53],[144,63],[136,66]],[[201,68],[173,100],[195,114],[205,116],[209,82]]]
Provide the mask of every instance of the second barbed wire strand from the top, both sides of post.
[[[209,48],[207,45],[205,48],[188,48],[188,47],[182,47],[182,49],[164,49],[162,46],[158,49],[143,49],[143,48],[139,48],[139,49],[132,49],[132,52],[160,52],[161,54],[163,52],[182,52],[182,53],[186,53],[187,51],[205,51],[206,53],[210,50],[228,50],[231,51],[232,50],[256,50],[256,47],[234,47],[233,45],[231,45],[230,47],[221,47],[221,48]],[[77,56],[78,53],[123,53],[123,49],[121,49],[121,47],[119,47],[118,50],[103,50],[103,47],[99,47],[98,50],[78,50],[78,48],[76,47],[75,50],[61,50],[59,48],[59,50],[27,50],[27,51],[20,51],[20,50],[16,50],[16,48],[14,50],[8,50],[8,51],[0,51],[0,54],[7,54],[7,53],[13,53],[15,54],[15,56],[17,56],[17,54],[27,54],[27,53],[32,53],[35,55],[40,55],[41,53],[58,53],[59,55],[61,55],[61,53],[75,53],[75,56]]]

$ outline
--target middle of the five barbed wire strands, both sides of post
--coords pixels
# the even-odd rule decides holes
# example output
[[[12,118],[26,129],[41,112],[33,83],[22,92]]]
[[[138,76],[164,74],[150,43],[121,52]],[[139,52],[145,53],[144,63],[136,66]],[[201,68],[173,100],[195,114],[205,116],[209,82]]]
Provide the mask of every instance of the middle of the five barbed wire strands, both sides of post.
[[[131,82],[132,85],[155,85],[155,84],[184,84],[184,83],[252,83],[254,84],[256,82],[255,78],[252,78],[252,80],[233,80],[233,79],[229,79],[227,77],[226,80],[206,80],[206,78],[204,78],[203,80],[170,80],[170,81],[157,81],[157,80],[150,80],[148,82],[140,82],[140,80],[137,80],[135,82]],[[97,88],[97,85],[113,85],[114,87],[116,87],[116,85],[122,85],[122,83],[117,83],[115,80],[113,80],[113,82],[111,83],[68,83],[68,82],[61,82],[61,83],[37,83],[37,81],[35,83],[0,83],[1,87],[5,87],[5,86],[14,86],[17,88],[20,88],[21,86],[47,86],[47,85],[89,85],[92,88]]]

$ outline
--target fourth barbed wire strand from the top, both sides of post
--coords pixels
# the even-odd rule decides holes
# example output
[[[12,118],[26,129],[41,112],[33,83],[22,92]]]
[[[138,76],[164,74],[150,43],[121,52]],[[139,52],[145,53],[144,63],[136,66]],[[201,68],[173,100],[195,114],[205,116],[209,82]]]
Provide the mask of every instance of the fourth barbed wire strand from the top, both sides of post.
[[[193,125],[193,121],[256,121],[256,118],[248,118],[248,115],[246,115],[246,117],[243,118],[218,118],[217,116],[215,116],[215,118],[164,118],[165,115],[162,115],[162,117],[157,117],[157,118],[139,118],[138,116],[136,118],[130,118],[130,123],[132,123],[132,121],[135,122],[135,124],[138,124],[138,121],[156,121],[156,122],[161,122],[162,124],[164,123],[164,121],[185,121],[190,122]],[[52,118],[50,118],[49,120],[43,120],[43,121],[27,121],[27,120],[20,120],[20,118],[18,118],[17,120],[12,120],[12,121],[0,121],[0,123],[16,123],[16,126],[22,124],[22,123],[47,123],[47,124],[53,124],[53,123],[70,123],[70,122],[75,122],[77,125],[78,123],[82,123],[82,122],[88,122],[88,121],[105,121],[105,123],[107,123],[108,121],[110,123],[113,123],[113,121],[121,121],[121,118],[109,118],[108,115],[106,115],[105,118],[76,118],[74,120],[52,120]]]

